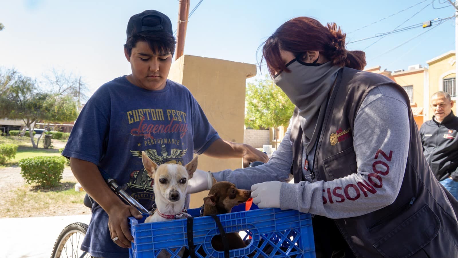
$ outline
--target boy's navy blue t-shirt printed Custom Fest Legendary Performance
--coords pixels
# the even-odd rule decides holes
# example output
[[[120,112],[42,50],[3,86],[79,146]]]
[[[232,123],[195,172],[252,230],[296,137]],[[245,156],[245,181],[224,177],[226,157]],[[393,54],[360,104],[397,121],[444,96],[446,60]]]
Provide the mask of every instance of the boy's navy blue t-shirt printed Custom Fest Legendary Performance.
[[[153,179],[142,151],[155,163],[186,164],[219,135],[183,85],[167,80],[163,90],[145,90],[126,78],[102,85],[82,109],[62,155],[92,162],[148,210],[154,203]],[[98,257],[128,257],[110,237],[108,214],[98,205],[82,249]]]

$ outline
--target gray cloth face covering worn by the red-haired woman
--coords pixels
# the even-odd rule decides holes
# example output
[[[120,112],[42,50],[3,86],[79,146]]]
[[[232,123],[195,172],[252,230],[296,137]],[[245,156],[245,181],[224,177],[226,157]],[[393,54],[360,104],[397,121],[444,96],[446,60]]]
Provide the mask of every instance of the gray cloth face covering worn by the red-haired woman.
[[[317,131],[324,118],[328,94],[341,67],[334,66],[331,62],[316,64],[297,59],[286,66],[291,72],[280,72],[274,81],[299,108],[304,147],[308,154],[319,134]]]

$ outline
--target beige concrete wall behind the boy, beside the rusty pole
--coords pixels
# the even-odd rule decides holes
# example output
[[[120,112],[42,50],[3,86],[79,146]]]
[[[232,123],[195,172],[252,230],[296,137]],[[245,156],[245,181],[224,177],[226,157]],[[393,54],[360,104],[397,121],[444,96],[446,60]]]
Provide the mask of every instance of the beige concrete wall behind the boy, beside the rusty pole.
[[[254,64],[184,55],[172,64],[169,79],[191,91],[221,138],[241,143],[245,124],[245,83],[255,75]],[[241,168],[242,159],[214,159],[201,155],[197,167],[213,172]],[[205,196],[207,192],[193,194],[190,207],[200,207]]]

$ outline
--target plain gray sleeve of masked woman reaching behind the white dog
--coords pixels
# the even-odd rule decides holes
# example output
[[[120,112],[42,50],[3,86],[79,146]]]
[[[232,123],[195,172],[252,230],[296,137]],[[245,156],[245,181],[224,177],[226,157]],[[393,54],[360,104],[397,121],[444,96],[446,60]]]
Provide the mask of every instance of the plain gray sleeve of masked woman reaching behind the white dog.
[[[291,132],[290,126],[286,130],[282,142],[277,150],[272,153],[272,157],[267,163],[255,168],[226,169],[213,173],[213,177],[218,182],[229,181],[237,188],[246,190],[250,190],[251,185],[257,183],[267,181],[289,181],[289,179],[292,178],[290,169],[293,164],[293,150],[291,149],[291,142],[289,140],[289,134]]]

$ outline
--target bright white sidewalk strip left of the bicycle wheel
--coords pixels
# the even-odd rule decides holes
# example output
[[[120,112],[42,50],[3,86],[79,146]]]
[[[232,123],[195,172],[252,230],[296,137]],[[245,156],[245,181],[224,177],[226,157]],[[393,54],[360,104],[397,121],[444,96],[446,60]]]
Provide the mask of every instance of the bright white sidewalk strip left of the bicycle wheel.
[[[5,258],[49,258],[68,224],[89,224],[91,215],[0,219],[0,253]]]

